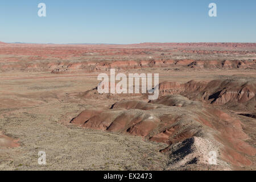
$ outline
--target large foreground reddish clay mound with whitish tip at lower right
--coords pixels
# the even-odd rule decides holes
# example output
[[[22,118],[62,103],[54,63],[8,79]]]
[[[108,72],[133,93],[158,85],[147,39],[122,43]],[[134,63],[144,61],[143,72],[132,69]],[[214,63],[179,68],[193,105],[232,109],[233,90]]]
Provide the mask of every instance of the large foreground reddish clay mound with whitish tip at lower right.
[[[71,123],[170,144],[163,151],[179,158],[170,162],[172,166],[174,163],[174,166],[182,166],[184,163],[206,164],[205,159],[209,158],[210,151],[220,153],[218,164],[222,166],[228,167],[222,160],[234,166],[248,166],[251,162],[246,155],[256,154],[254,147],[243,142],[249,137],[243,132],[240,120],[183,96],[164,96],[151,103],[120,101],[109,110],[84,110]],[[179,142],[187,139],[194,140],[189,146],[197,149],[185,147],[184,156],[180,158],[180,154],[175,151],[177,146],[179,148]],[[180,147],[182,146],[183,144]],[[200,146],[204,147],[200,149]]]

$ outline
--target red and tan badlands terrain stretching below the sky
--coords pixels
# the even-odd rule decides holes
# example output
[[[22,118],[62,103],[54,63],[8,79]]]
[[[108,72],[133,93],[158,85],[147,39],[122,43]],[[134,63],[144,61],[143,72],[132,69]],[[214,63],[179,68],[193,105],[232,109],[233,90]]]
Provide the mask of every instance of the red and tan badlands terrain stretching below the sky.
[[[158,99],[99,94],[111,68]],[[0,42],[0,93],[0,170],[256,169],[256,43]]]

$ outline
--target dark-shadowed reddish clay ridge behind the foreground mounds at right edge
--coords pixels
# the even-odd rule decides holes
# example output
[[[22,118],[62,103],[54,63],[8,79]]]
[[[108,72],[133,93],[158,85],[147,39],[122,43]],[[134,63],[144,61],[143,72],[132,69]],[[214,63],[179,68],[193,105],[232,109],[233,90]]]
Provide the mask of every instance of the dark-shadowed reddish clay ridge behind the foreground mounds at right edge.
[[[256,83],[250,81],[212,80],[209,82],[189,81],[185,84],[162,82],[159,93],[181,94],[192,100],[204,100],[214,105],[241,103],[254,109]]]

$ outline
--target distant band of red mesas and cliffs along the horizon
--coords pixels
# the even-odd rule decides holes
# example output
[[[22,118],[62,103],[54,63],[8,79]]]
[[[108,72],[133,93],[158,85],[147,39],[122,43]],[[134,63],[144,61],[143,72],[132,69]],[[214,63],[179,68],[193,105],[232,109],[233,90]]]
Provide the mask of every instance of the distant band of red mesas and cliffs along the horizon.
[[[130,45],[0,43],[0,46],[1,71],[19,69],[73,73],[101,71],[109,68],[256,68],[255,59],[247,57],[245,60],[236,60],[237,55],[255,55],[254,43],[145,43]],[[225,49],[218,50],[220,48]],[[181,58],[171,59],[172,57],[167,56],[173,53],[177,53]],[[216,54],[233,55],[233,57],[218,59],[214,56]],[[184,59],[183,55],[186,57],[189,55],[193,55],[193,57],[196,55],[208,56],[204,56],[202,59]],[[214,58],[212,59],[210,56]]]

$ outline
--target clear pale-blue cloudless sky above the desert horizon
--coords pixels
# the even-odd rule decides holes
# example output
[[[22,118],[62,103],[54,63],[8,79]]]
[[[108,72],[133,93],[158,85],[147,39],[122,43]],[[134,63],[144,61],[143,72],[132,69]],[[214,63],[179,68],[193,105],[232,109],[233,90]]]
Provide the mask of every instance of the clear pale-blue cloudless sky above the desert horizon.
[[[46,3],[46,17],[38,4]],[[209,17],[209,3],[217,17]],[[255,0],[1,0],[0,41],[256,42]]]

